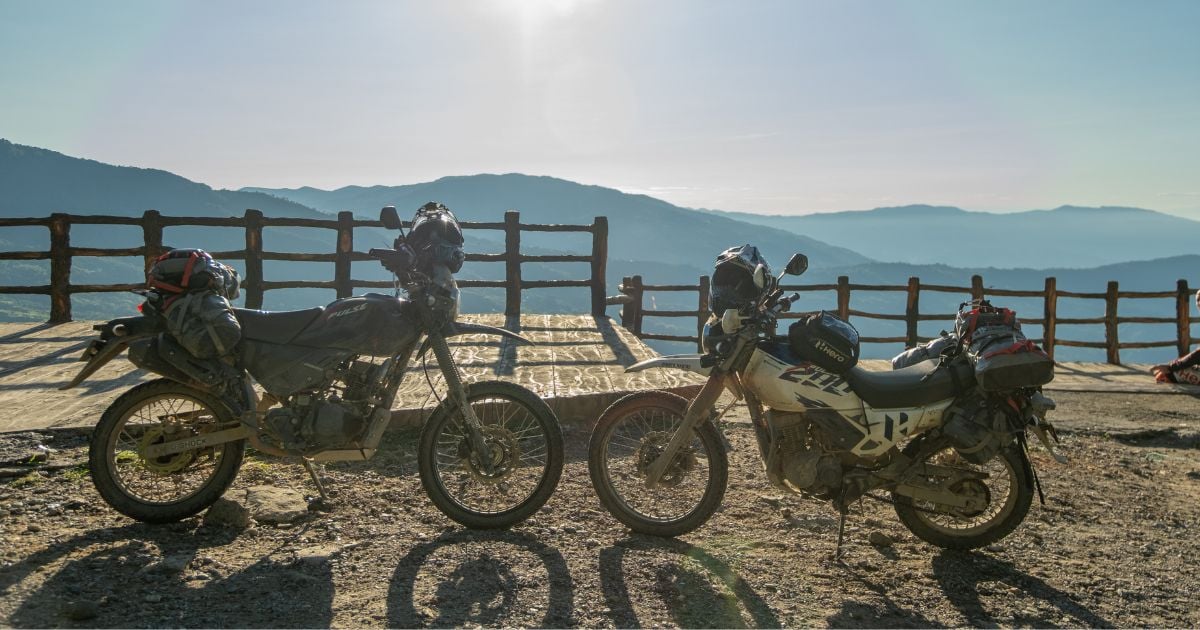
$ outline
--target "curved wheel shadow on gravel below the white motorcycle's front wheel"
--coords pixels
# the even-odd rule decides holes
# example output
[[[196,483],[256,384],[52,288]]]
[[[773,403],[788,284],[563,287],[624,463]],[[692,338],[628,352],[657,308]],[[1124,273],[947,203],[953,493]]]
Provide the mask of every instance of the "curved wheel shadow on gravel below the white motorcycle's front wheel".
[[[754,588],[715,556],[682,540],[634,534],[600,551],[600,583],[610,618],[617,628],[644,626],[628,588],[626,570],[637,566],[630,562],[630,556],[637,551],[665,551],[678,556],[677,562],[654,563],[654,590],[662,595],[662,604],[677,626],[782,626]],[[714,587],[714,581],[724,588]]]

